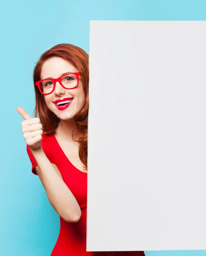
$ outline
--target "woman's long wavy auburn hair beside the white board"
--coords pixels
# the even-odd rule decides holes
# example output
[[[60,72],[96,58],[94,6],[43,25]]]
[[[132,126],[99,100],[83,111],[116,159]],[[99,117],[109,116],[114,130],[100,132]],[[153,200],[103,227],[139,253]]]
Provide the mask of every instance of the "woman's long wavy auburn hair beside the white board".
[[[41,80],[41,68],[46,60],[51,57],[61,57],[66,61],[73,64],[79,71],[82,81],[82,86],[84,89],[84,94],[86,96],[86,102],[84,108],[81,109],[79,113],[74,117],[77,124],[76,129],[80,132],[81,136],[78,140],[79,143],[79,158],[83,163],[84,170],[87,172],[87,122],[88,122],[88,108],[89,108],[89,56],[81,48],[74,46],[73,44],[58,44],[51,49],[44,52],[39,61],[37,62],[33,80],[35,87],[36,96],[36,106],[35,106],[35,117],[39,116],[41,123],[43,125],[43,134],[51,135],[55,132],[60,119],[49,110],[44,100],[44,95],[40,93],[38,87],[35,85],[36,81]],[[72,133],[73,138],[73,133]],[[74,139],[73,139],[74,140]],[[76,141],[76,140],[75,140]]]

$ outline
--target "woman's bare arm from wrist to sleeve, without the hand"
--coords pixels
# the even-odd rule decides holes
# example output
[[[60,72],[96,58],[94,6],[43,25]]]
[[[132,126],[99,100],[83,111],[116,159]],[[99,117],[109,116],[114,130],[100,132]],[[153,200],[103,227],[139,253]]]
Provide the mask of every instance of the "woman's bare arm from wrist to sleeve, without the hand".
[[[74,195],[64,183],[57,166],[50,163],[43,148],[32,150],[38,166],[35,168],[46,191],[50,204],[67,222],[77,222],[81,217],[81,209]]]

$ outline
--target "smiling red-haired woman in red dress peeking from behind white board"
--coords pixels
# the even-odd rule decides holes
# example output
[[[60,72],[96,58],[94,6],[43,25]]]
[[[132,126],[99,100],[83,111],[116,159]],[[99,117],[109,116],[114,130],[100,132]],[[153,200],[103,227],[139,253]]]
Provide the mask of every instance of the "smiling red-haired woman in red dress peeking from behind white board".
[[[58,44],[41,55],[34,70],[35,118],[23,108],[23,137],[50,204],[60,215],[51,256],[136,255],[144,252],[86,252],[88,55]],[[37,116],[39,115],[39,118]]]

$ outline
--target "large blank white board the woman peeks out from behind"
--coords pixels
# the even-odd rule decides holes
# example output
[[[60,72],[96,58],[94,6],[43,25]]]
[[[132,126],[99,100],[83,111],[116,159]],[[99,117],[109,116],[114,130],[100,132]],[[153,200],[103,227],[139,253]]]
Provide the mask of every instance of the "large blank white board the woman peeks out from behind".
[[[90,21],[87,251],[206,250],[205,31]]]

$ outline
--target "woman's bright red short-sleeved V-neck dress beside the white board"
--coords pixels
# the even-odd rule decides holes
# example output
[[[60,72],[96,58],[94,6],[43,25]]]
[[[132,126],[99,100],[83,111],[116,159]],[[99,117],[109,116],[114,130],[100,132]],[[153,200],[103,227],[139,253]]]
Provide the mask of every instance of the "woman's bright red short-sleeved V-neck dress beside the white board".
[[[51,256],[145,256],[143,251],[86,252],[87,174],[75,168],[68,160],[54,134],[43,135],[42,147],[50,162],[58,167],[64,182],[81,208],[78,222],[69,223],[60,217],[60,233]],[[35,172],[37,163],[28,145],[26,150],[32,163],[32,172],[37,175]]]

